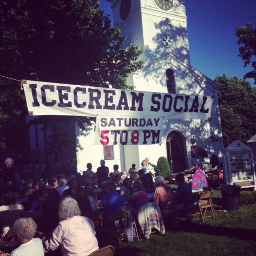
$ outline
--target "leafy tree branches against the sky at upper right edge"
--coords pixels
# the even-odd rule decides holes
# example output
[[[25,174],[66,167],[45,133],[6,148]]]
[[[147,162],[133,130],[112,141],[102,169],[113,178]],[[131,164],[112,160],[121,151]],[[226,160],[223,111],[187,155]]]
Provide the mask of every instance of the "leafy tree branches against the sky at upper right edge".
[[[243,78],[253,78],[256,84],[256,29],[253,29],[252,24],[249,23],[245,27],[238,27],[236,29],[236,36],[238,37],[239,55],[245,61],[245,67],[251,63],[253,71],[245,74]]]

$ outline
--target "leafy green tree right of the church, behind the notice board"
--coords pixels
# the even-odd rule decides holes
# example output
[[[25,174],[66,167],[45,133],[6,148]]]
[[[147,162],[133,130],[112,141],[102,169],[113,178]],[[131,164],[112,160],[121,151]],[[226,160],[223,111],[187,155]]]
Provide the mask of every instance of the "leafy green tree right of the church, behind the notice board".
[[[224,133],[224,144],[239,140],[243,143],[255,134],[256,88],[246,80],[226,75],[217,76],[220,119]]]

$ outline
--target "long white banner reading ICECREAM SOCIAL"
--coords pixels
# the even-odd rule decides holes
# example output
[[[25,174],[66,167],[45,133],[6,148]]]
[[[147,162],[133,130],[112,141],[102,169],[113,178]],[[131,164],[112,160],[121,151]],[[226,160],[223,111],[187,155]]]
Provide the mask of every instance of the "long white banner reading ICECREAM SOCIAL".
[[[211,96],[163,94],[25,80],[30,115],[207,119]]]

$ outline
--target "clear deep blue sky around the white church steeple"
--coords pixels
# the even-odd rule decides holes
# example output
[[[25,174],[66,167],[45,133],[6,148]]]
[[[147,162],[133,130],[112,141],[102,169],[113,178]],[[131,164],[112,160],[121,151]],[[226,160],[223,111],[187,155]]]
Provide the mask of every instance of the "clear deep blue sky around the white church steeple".
[[[111,4],[100,2],[111,15]],[[238,57],[235,31],[249,22],[256,27],[256,0],[185,0],[185,5],[191,65],[211,79],[223,74],[242,79],[252,67],[244,68]]]

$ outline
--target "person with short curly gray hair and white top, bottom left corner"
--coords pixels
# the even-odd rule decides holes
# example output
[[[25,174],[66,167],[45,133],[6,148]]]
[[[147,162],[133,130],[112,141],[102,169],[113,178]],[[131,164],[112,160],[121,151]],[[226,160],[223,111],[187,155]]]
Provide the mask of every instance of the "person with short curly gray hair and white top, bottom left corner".
[[[20,218],[14,223],[14,236],[20,245],[11,252],[11,256],[44,256],[42,240],[33,238],[37,231],[37,224],[32,218]]]

